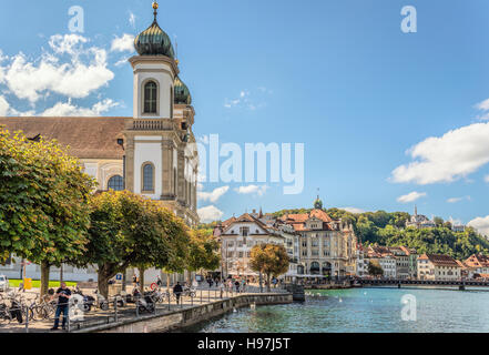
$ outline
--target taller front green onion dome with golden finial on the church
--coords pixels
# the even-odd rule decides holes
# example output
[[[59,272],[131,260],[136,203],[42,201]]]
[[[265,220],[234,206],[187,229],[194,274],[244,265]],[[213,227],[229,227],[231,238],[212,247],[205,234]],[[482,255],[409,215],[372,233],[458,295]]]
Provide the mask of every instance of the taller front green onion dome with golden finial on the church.
[[[134,39],[134,48],[140,55],[166,55],[175,58],[170,37],[163,31],[156,21],[157,2],[153,2],[154,21]]]

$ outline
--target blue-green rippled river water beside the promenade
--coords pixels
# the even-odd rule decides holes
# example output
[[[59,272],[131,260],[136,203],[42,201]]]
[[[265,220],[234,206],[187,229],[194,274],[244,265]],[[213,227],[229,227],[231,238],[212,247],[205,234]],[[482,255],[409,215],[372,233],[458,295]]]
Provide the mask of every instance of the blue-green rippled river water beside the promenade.
[[[489,290],[350,288],[312,292],[320,294],[320,297],[309,297],[305,303],[242,308],[186,331],[489,332]],[[403,300],[407,303],[403,304]]]

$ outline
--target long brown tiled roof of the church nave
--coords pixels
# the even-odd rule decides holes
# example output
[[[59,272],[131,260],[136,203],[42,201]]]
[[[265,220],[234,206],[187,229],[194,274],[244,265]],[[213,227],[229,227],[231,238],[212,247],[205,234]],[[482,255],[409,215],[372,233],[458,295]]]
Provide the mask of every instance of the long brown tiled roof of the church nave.
[[[11,133],[22,131],[27,138],[41,135],[69,145],[69,153],[79,159],[121,159],[126,118],[0,118]]]

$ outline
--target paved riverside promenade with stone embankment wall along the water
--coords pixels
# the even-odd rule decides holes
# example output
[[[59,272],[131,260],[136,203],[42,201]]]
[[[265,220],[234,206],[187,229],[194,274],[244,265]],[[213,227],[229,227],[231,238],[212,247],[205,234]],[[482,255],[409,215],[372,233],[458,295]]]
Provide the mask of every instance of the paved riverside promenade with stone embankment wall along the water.
[[[26,298],[34,297],[35,293],[28,293]],[[17,320],[8,325],[0,323],[0,333],[161,333],[179,329],[240,307],[249,307],[268,304],[286,304],[293,302],[293,295],[284,290],[272,290],[267,293],[255,286],[248,286],[244,293],[223,292],[218,288],[202,287],[194,297],[182,297],[181,303],[171,300],[167,303],[157,303],[154,312],[139,312],[135,304],[129,303],[124,307],[111,302],[108,311],[100,308],[84,313],[69,322],[67,331],[51,332],[53,318],[18,323]]]

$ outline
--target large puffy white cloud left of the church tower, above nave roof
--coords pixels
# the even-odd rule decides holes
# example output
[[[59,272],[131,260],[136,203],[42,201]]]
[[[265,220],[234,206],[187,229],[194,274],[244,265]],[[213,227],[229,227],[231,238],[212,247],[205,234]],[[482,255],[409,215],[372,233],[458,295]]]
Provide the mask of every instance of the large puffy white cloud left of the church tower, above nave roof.
[[[85,48],[88,42],[78,34],[52,36],[51,53],[44,51],[35,61],[30,61],[22,52],[9,58],[7,63],[0,64],[0,80],[17,98],[31,103],[50,92],[85,98],[114,78],[108,69],[106,51],[98,47]]]

